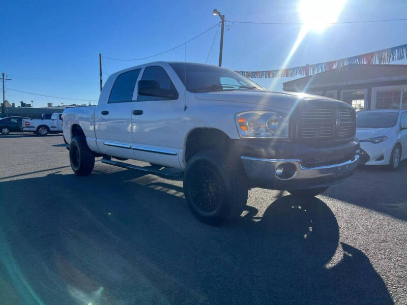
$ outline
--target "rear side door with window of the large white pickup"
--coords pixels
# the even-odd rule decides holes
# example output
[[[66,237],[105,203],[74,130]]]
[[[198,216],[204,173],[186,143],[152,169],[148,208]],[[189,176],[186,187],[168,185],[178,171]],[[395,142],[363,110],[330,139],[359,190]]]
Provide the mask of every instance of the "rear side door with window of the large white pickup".
[[[133,158],[131,149],[131,111],[134,87],[141,69],[120,74],[108,101],[95,110],[97,145],[103,154]]]

